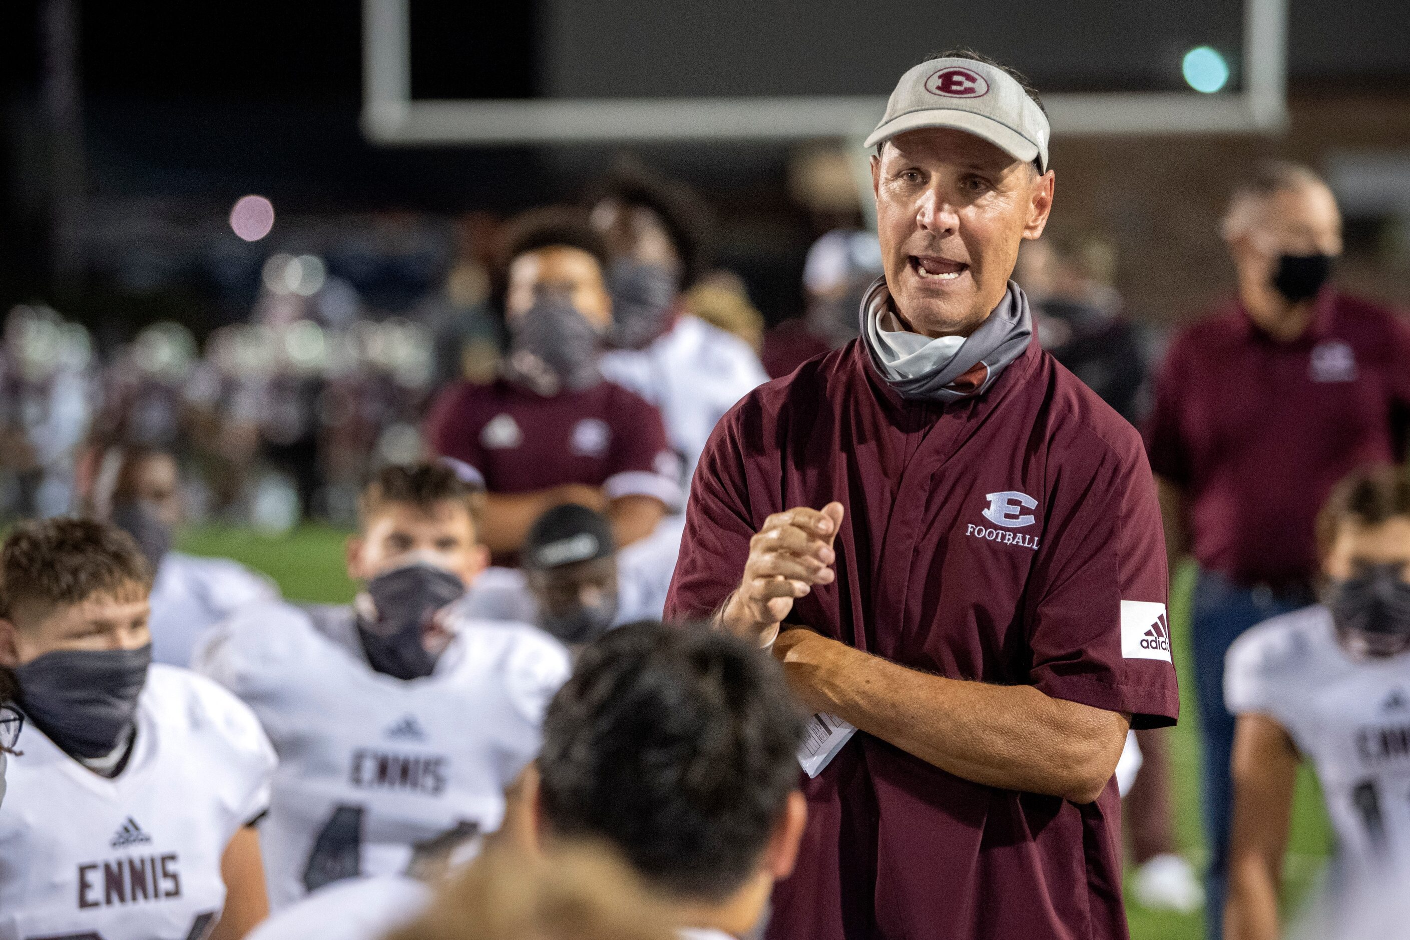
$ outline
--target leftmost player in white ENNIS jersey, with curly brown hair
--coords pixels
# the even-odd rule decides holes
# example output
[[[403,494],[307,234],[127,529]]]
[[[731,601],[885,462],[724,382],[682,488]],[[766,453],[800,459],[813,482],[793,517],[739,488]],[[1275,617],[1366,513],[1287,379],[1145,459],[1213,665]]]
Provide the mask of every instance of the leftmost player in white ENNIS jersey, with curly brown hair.
[[[0,806],[0,940],[233,940],[266,912],[275,755],[238,699],[151,664],[149,568],[93,520],[0,548],[0,665],[24,726]]]

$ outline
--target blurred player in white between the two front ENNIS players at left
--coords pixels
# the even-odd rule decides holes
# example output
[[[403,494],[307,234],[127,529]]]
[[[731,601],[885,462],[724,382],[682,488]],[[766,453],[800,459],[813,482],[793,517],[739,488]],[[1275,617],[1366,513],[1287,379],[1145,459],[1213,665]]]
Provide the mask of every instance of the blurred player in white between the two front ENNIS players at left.
[[[192,648],[212,627],[248,603],[278,600],[269,578],[230,558],[171,548],[183,517],[176,458],[157,448],[113,448],[103,455],[89,505],[94,516],[127,530],[155,569],[152,660],[190,665]]]

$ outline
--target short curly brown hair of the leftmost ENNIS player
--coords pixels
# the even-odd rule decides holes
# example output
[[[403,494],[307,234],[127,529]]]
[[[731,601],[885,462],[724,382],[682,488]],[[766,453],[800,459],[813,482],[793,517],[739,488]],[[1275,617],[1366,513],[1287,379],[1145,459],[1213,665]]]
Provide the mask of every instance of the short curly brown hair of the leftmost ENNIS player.
[[[93,596],[145,595],[152,569],[117,526],[93,519],[20,523],[0,547],[0,616],[21,605],[82,603]]]

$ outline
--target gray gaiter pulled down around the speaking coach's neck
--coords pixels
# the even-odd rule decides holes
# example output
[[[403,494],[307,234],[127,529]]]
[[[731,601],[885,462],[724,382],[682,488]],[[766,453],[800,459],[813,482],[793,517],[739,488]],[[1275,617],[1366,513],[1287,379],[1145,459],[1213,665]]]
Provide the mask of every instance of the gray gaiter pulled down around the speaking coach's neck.
[[[877,278],[862,299],[862,341],[887,385],[908,400],[949,404],[981,395],[1000,372],[1024,354],[1034,334],[1028,296],[1008,282],[994,311],[969,337],[931,338],[905,330],[891,309],[885,278]],[[977,385],[956,382],[984,366]],[[966,378],[969,382],[973,376]]]

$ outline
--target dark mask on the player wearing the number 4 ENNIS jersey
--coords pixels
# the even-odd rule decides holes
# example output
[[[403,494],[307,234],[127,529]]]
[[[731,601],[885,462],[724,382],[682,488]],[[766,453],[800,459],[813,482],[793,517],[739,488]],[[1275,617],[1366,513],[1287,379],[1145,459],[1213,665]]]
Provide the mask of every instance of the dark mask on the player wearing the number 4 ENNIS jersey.
[[[465,583],[430,565],[382,572],[358,599],[357,629],[367,661],[398,679],[419,679],[436,669],[439,654],[426,650],[426,624],[437,610],[465,593]]]

